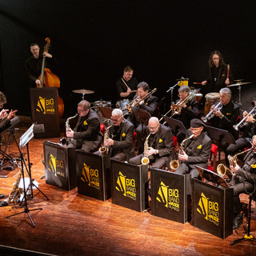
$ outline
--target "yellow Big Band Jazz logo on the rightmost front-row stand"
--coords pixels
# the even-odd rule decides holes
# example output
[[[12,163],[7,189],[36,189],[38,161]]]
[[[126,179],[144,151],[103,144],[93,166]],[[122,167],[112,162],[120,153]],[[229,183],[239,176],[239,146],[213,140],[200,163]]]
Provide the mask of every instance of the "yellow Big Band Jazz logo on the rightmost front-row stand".
[[[198,206],[197,211],[199,214],[204,215],[207,221],[213,222],[216,226],[219,225],[218,202],[211,202],[209,198],[206,198],[202,193]]]

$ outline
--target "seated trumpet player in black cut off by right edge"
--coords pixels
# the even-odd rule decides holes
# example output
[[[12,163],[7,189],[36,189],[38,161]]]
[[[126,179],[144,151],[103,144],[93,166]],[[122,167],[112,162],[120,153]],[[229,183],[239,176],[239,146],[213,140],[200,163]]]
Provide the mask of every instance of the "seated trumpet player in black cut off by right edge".
[[[254,101],[256,102],[256,101]],[[255,104],[255,103],[254,103]],[[241,131],[243,132],[242,138],[238,138],[235,141],[235,144],[231,144],[226,149],[227,155],[237,154],[239,150],[244,150],[246,147],[251,146],[251,138],[256,134],[256,120],[254,119],[252,114],[248,114],[247,111],[242,113],[245,122],[243,123]]]

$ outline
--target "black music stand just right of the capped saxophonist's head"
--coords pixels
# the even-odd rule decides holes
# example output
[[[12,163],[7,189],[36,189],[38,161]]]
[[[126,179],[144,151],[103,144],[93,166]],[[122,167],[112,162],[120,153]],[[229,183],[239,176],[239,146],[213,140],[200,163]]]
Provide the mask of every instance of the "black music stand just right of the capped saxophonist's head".
[[[222,140],[230,144],[235,144],[234,137],[227,130],[222,130],[212,126],[205,126],[208,136],[218,142],[218,160],[221,158],[221,151],[219,150]]]

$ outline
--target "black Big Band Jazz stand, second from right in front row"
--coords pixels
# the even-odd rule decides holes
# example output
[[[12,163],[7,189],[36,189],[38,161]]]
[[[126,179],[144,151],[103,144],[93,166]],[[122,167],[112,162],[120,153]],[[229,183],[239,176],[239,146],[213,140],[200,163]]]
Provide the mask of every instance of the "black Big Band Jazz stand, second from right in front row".
[[[190,175],[150,169],[151,213],[174,222],[187,222],[186,180]]]

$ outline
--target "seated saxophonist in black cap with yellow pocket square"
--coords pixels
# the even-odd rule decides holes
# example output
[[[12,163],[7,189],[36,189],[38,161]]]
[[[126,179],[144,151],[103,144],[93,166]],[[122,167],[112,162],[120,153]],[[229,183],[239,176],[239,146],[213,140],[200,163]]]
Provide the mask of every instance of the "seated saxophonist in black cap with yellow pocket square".
[[[191,178],[198,178],[199,172],[195,166],[207,167],[212,141],[203,132],[204,124],[201,120],[194,118],[190,121],[190,129],[187,130],[184,148],[178,154],[180,164],[176,170],[177,174],[191,174]]]

